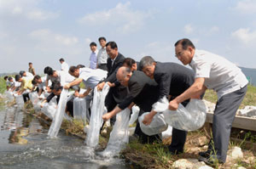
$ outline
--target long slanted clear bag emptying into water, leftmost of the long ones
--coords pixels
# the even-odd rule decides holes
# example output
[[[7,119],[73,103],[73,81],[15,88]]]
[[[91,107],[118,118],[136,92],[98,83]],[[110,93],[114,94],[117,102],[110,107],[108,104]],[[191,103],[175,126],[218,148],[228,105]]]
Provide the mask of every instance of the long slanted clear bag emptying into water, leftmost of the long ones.
[[[49,127],[48,135],[50,138],[56,137],[60,131],[61,122],[63,120],[65,108],[67,104],[67,94],[68,94],[68,90],[63,89],[61,92],[61,98],[59,100],[58,108],[56,110],[54,119],[51,122],[51,125]]]

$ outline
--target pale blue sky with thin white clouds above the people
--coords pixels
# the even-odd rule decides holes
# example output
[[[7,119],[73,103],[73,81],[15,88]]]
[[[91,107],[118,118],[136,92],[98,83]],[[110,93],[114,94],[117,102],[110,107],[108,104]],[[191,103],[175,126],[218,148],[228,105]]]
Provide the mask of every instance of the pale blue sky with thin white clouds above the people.
[[[195,48],[256,68],[256,1],[0,0],[0,73],[32,62],[40,75],[45,66],[61,69],[61,58],[88,66],[98,37],[116,42],[125,57],[176,63],[174,43],[186,37]]]

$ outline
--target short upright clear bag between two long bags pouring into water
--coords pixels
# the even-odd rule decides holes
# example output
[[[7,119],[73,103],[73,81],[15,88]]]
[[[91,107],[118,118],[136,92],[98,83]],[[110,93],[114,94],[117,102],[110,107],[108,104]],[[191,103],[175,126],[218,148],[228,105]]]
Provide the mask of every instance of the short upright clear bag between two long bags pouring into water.
[[[86,121],[86,102],[85,98],[73,99],[73,118]]]

